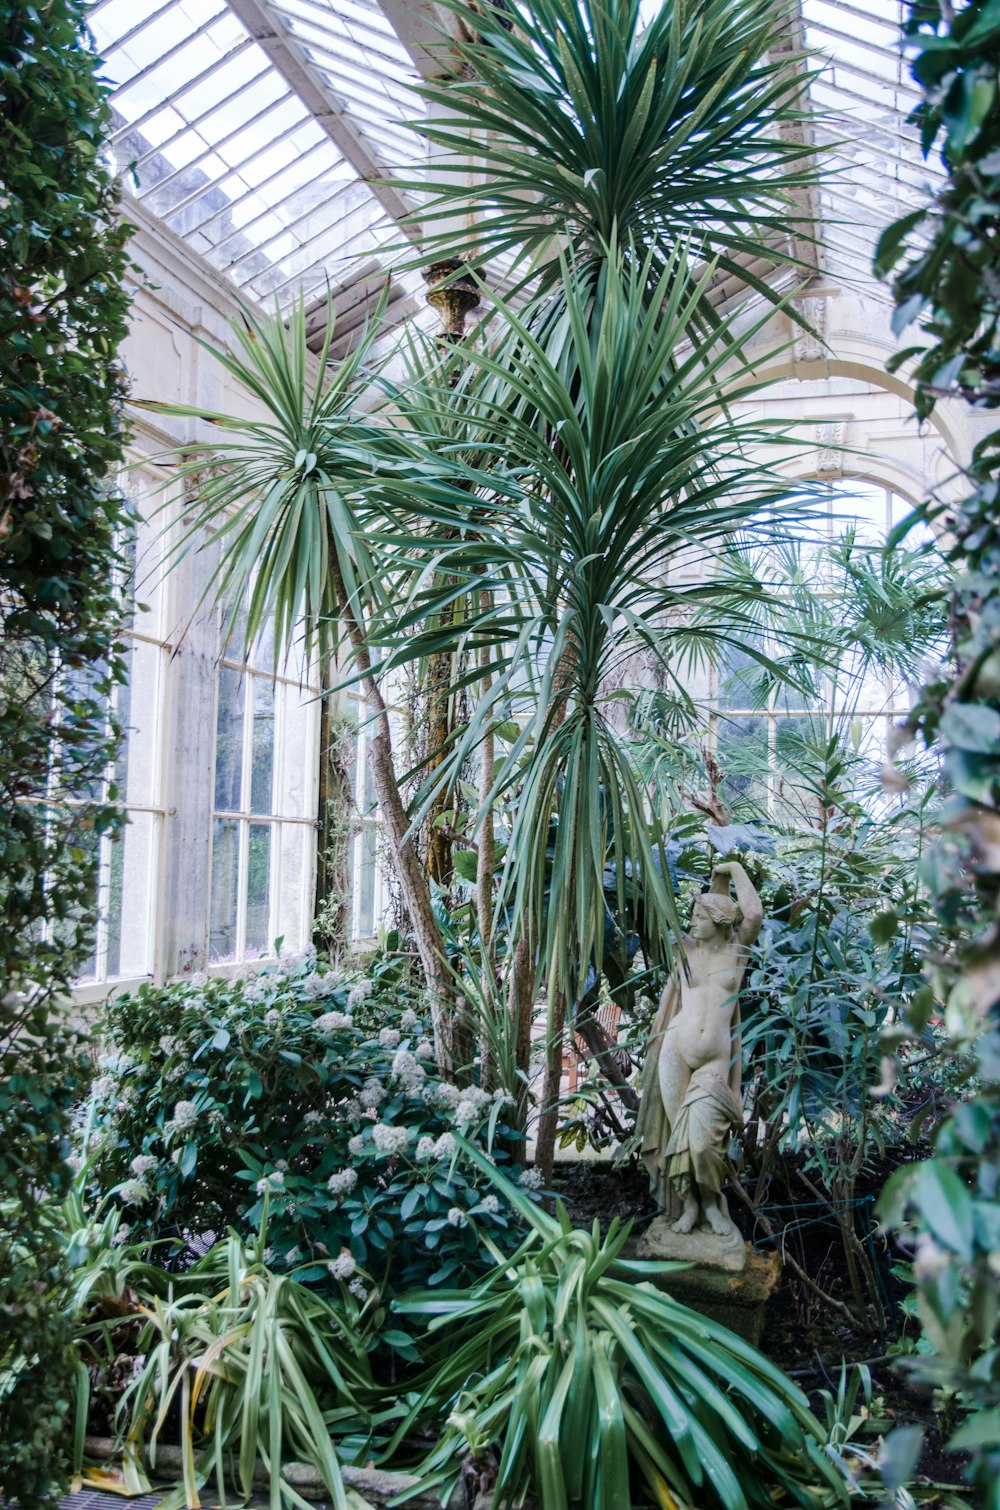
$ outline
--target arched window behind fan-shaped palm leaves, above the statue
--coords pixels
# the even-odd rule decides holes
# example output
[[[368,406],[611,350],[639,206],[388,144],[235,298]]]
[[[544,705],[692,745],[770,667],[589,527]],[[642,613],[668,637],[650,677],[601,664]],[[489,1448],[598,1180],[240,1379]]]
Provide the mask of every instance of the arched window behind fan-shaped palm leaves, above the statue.
[[[754,648],[795,680],[775,683],[745,651],[715,667],[711,744],[736,806],[775,811],[805,734],[837,731],[873,766],[890,757],[893,723],[944,652],[940,612],[921,609],[944,574],[934,533],[917,522],[887,550],[912,512],[893,488],[843,479],[813,500],[793,539],[760,550],[781,607],[776,631],[761,631]]]

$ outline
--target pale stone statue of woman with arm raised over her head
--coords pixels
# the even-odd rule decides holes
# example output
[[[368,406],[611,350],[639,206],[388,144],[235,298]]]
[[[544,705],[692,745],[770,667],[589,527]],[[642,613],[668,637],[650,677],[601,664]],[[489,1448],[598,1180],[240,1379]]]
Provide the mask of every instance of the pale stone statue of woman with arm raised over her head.
[[[742,1123],[739,992],[763,920],[743,867],[716,865],[695,901],[680,974],[653,1022],[637,1122],[663,1219],[654,1226],[678,1235],[707,1229],[740,1250],[722,1179],[730,1129]]]

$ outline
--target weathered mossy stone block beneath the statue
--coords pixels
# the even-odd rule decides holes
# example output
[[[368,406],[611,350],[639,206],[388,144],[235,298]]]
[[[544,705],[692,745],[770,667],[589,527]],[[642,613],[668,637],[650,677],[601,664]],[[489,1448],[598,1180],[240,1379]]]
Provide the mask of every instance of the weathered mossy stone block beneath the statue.
[[[725,1246],[722,1256],[727,1262],[708,1255],[710,1241]],[[681,1244],[687,1244],[686,1252],[680,1250]],[[760,1347],[764,1305],[781,1280],[781,1259],[773,1252],[757,1253],[742,1238],[739,1246],[742,1262],[737,1267],[730,1238],[716,1237],[715,1232],[671,1232],[669,1223],[659,1219],[639,1238],[634,1256],[690,1262],[692,1268],[680,1268],[672,1274],[650,1274],[650,1284],[708,1321],[718,1321]]]

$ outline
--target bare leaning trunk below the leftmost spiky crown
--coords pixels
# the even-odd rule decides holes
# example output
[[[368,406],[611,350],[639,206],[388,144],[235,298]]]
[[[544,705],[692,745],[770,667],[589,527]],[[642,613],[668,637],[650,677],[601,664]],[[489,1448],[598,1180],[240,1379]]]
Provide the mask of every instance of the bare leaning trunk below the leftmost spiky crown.
[[[340,562],[331,542],[329,571],[337,595],[337,606],[341,624],[347,631],[353,663],[361,673],[361,690],[369,708],[370,725],[375,734],[369,738],[369,766],[372,770],[372,785],[379,802],[385,834],[388,838],[393,862],[399,874],[399,885],[403,895],[409,923],[417,942],[417,953],[423,966],[431,998],[431,1016],[434,1022],[434,1049],[438,1069],[447,1078],[453,1078],[459,1068],[455,1045],[456,998],[452,974],[444,954],[444,942],[434,909],[431,906],[431,888],[420,864],[420,856],[408,837],[409,818],[396,781],[393,764],[393,735],[388,722],[388,708],[382,698],[381,687],[372,670],[372,655],[364,630],[350,604],[347,587],[340,571]]]

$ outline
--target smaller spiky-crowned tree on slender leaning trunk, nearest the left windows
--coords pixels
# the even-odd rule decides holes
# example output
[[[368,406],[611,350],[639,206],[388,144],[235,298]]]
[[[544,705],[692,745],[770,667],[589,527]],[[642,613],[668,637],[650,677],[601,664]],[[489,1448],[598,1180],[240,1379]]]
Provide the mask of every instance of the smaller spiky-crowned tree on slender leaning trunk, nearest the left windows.
[[[427,980],[438,1065],[447,1072],[453,1066],[452,978],[400,794],[367,616],[376,609],[391,613],[396,592],[385,560],[369,542],[384,497],[434,512],[443,495],[453,509],[458,485],[455,468],[414,448],[369,412],[379,320],[381,310],[352,353],[334,364],[328,359],[332,304],[317,359],[308,350],[302,302],[287,319],[245,310],[233,325],[234,350],[208,349],[246,396],[251,417],[154,400],[144,406],[201,420],[218,435],[196,456],[181,456],[175,468],[190,500],[187,525],[168,562],[219,547],[205,596],[230,610],[246,604],[239,649],[248,651],[273,618],[276,654],[296,637],[307,654],[319,649],[323,666],[343,651],[344,676],[364,695],[372,782]],[[228,633],[234,633],[233,613]]]

